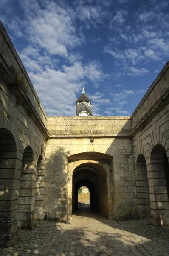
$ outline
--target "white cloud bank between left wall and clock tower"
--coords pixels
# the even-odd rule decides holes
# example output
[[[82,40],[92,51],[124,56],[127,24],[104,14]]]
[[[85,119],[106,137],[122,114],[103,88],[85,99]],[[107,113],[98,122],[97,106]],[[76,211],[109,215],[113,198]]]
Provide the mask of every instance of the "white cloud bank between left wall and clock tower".
[[[81,92],[85,79],[92,82],[100,80],[100,73],[99,64],[93,61],[85,66],[80,62],[63,65],[62,70],[46,68],[36,74],[29,72],[29,76],[48,115],[74,116],[76,93]],[[102,104],[101,96],[97,95],[97,98],[99,105]]]

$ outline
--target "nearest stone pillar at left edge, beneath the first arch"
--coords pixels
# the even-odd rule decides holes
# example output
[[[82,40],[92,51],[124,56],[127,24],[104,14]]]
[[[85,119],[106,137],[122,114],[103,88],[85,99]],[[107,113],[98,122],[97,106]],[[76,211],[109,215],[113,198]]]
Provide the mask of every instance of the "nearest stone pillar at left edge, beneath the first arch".
[[[7,162],[8,168],[6,168]],[[0,170],[0,247],[13,246],[18,237],[17,207],[20,170],[12,169],[15,163],[15,159],[4,160],[1,163],[1,168],[4,167],[4,169]]]

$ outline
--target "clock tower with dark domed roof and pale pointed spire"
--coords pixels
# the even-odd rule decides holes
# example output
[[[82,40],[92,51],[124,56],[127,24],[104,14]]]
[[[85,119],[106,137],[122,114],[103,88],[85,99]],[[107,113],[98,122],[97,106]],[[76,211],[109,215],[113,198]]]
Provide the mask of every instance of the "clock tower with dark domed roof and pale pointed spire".
[[[76,116],[92,116],[92,103],[85,93],[85,87],[76,101]]]

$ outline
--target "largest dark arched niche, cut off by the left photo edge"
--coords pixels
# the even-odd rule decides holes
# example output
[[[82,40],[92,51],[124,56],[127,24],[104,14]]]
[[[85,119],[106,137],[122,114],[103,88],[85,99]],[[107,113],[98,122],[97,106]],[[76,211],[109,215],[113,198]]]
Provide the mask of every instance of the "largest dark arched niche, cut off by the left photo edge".
[[[14,136],[0,128],[0,247],[17,242],[17,207],[20,163]]]

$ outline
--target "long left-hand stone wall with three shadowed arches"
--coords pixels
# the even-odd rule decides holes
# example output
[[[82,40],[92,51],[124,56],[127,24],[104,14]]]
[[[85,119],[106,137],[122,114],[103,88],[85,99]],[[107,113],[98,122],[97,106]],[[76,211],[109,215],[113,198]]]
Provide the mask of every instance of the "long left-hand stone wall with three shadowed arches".
[[[11,65],[27,79],[28,96],[9,89]],[[36,212],[43,211],[46,123],[37,93],[0,23],[0,246],[14,244],[17,227],[34,227]]]

